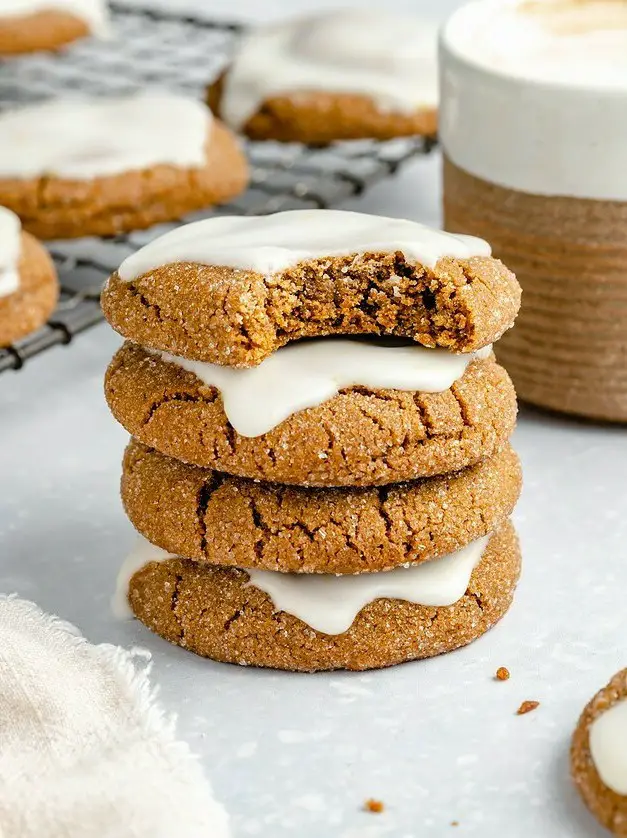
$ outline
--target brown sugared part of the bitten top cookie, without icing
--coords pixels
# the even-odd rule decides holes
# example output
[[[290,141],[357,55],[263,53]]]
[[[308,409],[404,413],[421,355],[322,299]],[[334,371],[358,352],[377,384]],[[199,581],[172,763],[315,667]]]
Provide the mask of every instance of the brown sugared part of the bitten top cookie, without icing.
[[[324,335],[397,335],[471,352],[513,325],[520,295],[497,259],[445,257],[429,269],[397,252],[312,259],[269,276],[176,262],[129,282],[113,274],[102,307],[134,343],[250,367],[291,340]]]

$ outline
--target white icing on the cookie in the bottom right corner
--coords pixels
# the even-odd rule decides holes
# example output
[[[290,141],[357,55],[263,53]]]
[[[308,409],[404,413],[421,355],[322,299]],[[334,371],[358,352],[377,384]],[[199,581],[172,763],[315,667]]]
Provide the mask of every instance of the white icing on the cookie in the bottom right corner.
[[[597,716],[589,736],[599,777],[616,794],[627,796],[627,699]]]

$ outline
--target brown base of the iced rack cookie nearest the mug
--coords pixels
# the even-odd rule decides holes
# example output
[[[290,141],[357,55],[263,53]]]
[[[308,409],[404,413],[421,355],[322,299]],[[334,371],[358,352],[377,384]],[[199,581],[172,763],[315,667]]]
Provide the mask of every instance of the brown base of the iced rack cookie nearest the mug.
[[[207,90],[207,103],[218,116],[223,89],[224,75]],[[319,90],[268,97],[242,133],[252,140],[328,145],[338,140],[435,137],[437,129],[437,108],[385,113],[369,96]]]

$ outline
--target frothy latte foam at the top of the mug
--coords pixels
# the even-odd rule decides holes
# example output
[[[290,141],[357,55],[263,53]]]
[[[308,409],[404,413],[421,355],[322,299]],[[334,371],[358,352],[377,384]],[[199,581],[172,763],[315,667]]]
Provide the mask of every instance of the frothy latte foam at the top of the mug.
[[[627,0],[471,3],[447,27],[462,57],[577,87],[627,89]]]

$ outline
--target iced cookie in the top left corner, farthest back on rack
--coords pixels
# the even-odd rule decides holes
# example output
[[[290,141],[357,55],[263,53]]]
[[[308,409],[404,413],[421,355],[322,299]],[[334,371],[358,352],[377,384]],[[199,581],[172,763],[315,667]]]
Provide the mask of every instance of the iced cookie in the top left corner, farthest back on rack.
[[[104,0],[3,0],[0,57],[56,50],[107,31]]]

